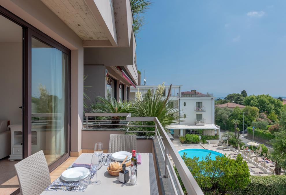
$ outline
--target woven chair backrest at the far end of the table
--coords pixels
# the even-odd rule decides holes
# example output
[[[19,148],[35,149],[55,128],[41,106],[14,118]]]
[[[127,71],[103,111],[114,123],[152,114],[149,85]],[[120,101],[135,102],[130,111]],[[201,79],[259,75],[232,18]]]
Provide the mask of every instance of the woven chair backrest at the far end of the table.
[[[110,134],[109,153],[136,150],[136,135]],[[137,152],[137,150],[136,150]]]

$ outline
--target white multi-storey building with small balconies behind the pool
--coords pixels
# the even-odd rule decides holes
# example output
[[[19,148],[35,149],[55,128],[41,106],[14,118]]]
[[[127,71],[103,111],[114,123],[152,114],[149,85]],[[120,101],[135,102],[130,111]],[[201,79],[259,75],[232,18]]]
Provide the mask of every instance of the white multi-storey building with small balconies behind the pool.
[[[185,134],[195,133],[197,130],[203,129],[204,135],[220,135],[220,127],[214,124],[214,101],[213,94],[202,94],[182,97],[182,85],[172,86],[168,106],[179,109],[180,121],[178,124],[170,125],[170,133],[177,138],[185,136]],[[143,96],[148,90],[154,93],[158,86],[136,86],[130,87],[130,100],[135,100],[136,92],[141,92]],[[168,86],[165,87],[163,98],[167,96]]]

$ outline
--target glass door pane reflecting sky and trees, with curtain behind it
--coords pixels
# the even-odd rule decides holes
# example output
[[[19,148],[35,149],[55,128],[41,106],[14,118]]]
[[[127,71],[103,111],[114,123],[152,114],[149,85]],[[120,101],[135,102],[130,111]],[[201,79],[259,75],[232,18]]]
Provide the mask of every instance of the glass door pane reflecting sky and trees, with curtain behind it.
[[[68,54],[31,38],[31,150],[52,164],[67,151]]]

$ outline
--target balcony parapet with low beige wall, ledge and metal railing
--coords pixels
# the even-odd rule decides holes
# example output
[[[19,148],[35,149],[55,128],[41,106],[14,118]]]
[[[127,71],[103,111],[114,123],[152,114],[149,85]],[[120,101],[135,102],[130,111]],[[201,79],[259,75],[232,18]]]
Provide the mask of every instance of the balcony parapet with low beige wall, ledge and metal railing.
[[[102,142],[104,153],[108,153],[110,134],[137,135],[136,152],[149,153],[153,156],[157,181],[155,188],[159,194],[184,194],[174,167],[177,168],[188,194],[203,194],[172,144],[174,138],[164,130],[157,117],[132,117],[130,113],[85,113],[82,153],[93,153],[96,142]],[[140,176],[138,174],[138,178]],[[142,180],[146,183],[146,189],[147,185],[151,186],[154,182],[148,177]]]

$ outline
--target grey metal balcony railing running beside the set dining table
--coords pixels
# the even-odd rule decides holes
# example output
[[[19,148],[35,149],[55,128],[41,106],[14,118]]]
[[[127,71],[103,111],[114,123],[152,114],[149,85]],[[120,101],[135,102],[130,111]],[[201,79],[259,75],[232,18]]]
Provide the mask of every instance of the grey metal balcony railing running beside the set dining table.
[[[130,113],[86,113],[86,128],[90,127],[90,123],[92,121],[98,122],[105,120],[106,122],[109,121],[126,121],[127,123],[124,124],[127,128],[127,132],[132,133],[155,133],[155,137],[157,138],[159,142],[159,147],[161,154],[163,156],[164,162],[165,162],[165,174],[164,178],[170,178],[170,181],[172,183],[172,187],[174,190],[174,194],[181,194],[184,195],[183,189],[181,187],[181,184],[179,182],[178,177],[176,176],[174,167],[172,166],[171,160],[169,155],[171,156],[174,166],[177,168],[177,171],[181,177],[181,180],[185,186],[185,189],[187,190],[188,194],[202,194],[203,191],[200,189],[198,183],[192,176],[190,170],[187,168],[186,164],[184,163],[183,159],[179,155],[177,149],[173,145],[172,141],[170,140],[169,136],[167,135],[166,131],[164,130],[163,126],[159,122],[157,117],[131,117]],[[94,117],[126,117],[125,119],[96,119]],[[89,119],[89,117],[93,117],[94,119]],[[134,125],[138,123],[138,121],[151,121],[154,122],[154,125]],[[137,123],[136,123],[137,122]],[[103,125],[103,124],[101,124]],[[109,123],[106,125],[110,125]],[[154,131],[132,131],[133,127],[148,127],[148,128],[154,128]],[[173,175],[173,177],[172,177]],[[162,177],[162,176],[161,176]],[[175,185],[175,183],[177,185]],[[177,186],[177,187],[176,187]]]

